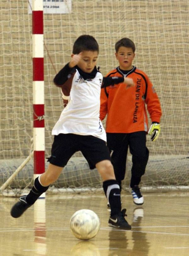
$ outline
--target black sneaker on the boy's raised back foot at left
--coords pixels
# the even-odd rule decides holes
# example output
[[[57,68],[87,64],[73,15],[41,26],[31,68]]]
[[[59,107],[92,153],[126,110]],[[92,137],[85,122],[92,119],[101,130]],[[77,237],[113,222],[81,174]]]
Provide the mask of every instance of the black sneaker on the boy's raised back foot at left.
[[[27,208],[29,208],[31,206],[31,204],[28,204],[26,202],[26,197],[27,195],[22,195],[20,196],[19,198],[19,202],[17,202],[11,209],[10,211],[10,215],[13,217],[13,218],[18,218],[22,215],[22,213],[24,213]]]

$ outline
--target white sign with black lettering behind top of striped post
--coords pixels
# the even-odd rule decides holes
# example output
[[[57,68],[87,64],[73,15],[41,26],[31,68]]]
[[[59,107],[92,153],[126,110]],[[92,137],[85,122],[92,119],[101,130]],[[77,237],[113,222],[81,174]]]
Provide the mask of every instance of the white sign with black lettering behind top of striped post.
[[[29,0],[28,13],[31,13],[32,0]],[[72,0],[43,0],[43,13],[59,14],[59,13],[71,13],[72,12]]]

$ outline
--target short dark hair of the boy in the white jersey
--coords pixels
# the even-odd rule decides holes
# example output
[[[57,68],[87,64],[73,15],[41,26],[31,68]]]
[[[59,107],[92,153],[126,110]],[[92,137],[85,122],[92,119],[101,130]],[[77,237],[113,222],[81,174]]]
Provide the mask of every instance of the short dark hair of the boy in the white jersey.
[[[82,35],[76,39],[73,44],[73,54],[79,54],[82,51],[97,51],[99,53],[99,45],[93,36]]]

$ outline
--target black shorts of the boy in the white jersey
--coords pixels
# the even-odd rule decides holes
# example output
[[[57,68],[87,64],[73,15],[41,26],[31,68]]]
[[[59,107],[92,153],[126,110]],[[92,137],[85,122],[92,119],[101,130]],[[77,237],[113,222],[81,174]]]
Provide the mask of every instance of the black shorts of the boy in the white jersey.
[[[91,135],[60,133],[54,136],[51,156],[48,158],[48,162],[55,166],[64,167],[77,151],[82,152],[89,163],[90,169],[94,169],[96,164],[102,160],[111,161],[105,141]]]

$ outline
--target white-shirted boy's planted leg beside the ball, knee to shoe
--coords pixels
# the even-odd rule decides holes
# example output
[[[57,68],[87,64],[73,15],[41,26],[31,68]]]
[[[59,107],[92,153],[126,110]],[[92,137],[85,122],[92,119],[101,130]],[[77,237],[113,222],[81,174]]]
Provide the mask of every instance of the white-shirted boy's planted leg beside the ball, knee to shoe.
[[[111,215],[109,226],[130,230],[131,225],[125,220],[126,210],[121,211],[121,195],[118,182],[115,179],[113,166],[110,160],[103,160],[96,164],[96,168],[103,179],[103,189],[110,203]]]

